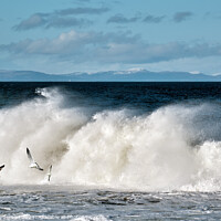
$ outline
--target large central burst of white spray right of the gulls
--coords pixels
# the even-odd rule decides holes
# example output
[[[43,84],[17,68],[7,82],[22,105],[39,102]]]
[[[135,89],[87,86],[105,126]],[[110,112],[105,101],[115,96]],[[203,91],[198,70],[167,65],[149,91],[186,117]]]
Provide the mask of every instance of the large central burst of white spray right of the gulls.
[[[176,188],[189,182],[196,169],[182,135],[165,110],[133,118],[123,110],[101,113],[67,140],[70,151],[60,168],[81,185]]]

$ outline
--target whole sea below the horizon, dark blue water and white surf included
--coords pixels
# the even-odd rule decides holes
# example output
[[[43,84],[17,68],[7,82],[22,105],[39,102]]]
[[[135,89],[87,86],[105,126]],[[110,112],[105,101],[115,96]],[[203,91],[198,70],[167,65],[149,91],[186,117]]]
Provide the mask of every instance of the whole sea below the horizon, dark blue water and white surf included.
[[[1,82],[1,165],[3,221],[220,220],[221,83]]]

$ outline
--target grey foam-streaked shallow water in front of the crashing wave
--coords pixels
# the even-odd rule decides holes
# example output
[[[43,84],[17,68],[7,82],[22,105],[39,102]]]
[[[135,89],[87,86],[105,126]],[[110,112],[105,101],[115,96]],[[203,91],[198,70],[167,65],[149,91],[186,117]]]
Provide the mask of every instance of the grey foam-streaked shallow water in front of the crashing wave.
[[[73,186],[1,186],[0,220],[219,220],[220,192],[136,192]]]

